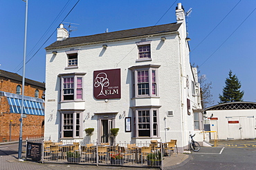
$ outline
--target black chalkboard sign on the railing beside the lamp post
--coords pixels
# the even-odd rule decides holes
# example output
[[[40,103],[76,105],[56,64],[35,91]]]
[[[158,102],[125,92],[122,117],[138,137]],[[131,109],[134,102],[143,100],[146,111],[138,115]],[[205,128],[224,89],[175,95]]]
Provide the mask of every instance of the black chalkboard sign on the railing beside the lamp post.
[[[42,143],[27,142],[26,158],[32,158],[33,160],[41,160],[42,158]]]

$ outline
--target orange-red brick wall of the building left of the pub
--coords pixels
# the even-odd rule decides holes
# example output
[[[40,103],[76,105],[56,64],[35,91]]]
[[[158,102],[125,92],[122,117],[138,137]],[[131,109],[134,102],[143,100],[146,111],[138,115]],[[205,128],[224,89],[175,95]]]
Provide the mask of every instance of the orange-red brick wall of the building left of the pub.
[[[16,94],[17,85],[21,85],[22,87],[21,82],[0,76],[0,91]],[[42,98],[44,88],[36,87],[35,85],[28,85],[26,83],[24,96],[35,97],[36,89],[39,90],[39,98]],[[20,114],[10,113],[10,107],[7,98],[5,96],[0,97],[0,142],[3,140],[9,141],[10,127],[11,140],[19,140],[19,118],[21,118]],[[43,121],[44,116],[27,115],[26,118],[23,118],[22,138],[26,139],[27,137],[34,138],[44,136],[44,126],[42,126],[44,124]]]

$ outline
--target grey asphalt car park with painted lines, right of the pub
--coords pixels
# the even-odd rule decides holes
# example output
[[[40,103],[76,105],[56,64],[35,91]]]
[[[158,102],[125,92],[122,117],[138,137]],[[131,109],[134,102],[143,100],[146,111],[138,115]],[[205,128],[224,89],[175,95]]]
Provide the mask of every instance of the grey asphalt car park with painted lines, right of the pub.
[[[256,140],[221,141],[218,147],[202,147],[192,159],[177,170],[256,169]]]

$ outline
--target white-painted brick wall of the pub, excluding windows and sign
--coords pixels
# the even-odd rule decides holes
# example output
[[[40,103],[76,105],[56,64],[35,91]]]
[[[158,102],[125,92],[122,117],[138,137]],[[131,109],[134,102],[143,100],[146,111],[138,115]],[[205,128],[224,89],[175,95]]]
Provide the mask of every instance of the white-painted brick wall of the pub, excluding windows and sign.
[[[185,25],[180,28],[184,32]],[[59,109],[79,108],[84,109],[83,129],[93,127],[95,129],[91,141],[96,140],[98,134],[98,122],[95,112],[113,112],[116,111],[116,127],[120,128],[116,141],[130,142],[131,132],[125,132],[125,118],[120,118],[120,114],[125,111],[125,116],[132,117],[130,107],[138,105],[161,105],[159,108],[159,129],[161,138],[157,140],[170,139],[178,140],[178,147],[188,145],[189,134],[194,131],[193,113],[188,115],[187,98],[191,100],[192,105],[197,103],[196,98],[192,96],[191,87],[186,87],[186,78],[193,80],[190,67],[188,43],[185,36],[180,34],[164,34],[165,41],[161,41],[161,36],[151,36],[152,61],[136,62],[138,50],[136,43],[145,37],[138,39],[120,40],[107,42],[107,49],[102,48],[102,43],[95,43],[86,46],[75,47],[78,52],[78,68],[65,70],[67,66],[67,56],[65,51],[70,48],[56,49],[57,55],[51,51],[46,53],[46,116],[45,116],[45,137],[51,136],[52,140],[58,140],[60,134],[60,112]],[[146,98],[136,100],[131,99],[131,70],[128,68],[135,65],[161,65],[158,68],[158,88],[160,98]],[[121,69],[121,88],[120,99],[109,99],[107,103],[104,100],[95,100],[93,98],[93,71]],[[59,103],[60,101],[60,78],[58,74],[71,72],[85,72],[84,76],[84,101],[76,103]],[[53,100],[54,101],[53,101]],[[49,100],[49,101],[48,101]],[[51,100],[51,101],[50,101]],[[196,106],[196,105],[195,105]],[[198,107],[198,106],[196,106]],[[174,116],[167,117],[167,111],[173,110]],[[89,114],[89,118],[86,116]],[[94,116],[93,116],[94,115]],[[91,117],[93,116],[93,118]],[[166,117],[166,119],[165,119]],[[166,130],[165,125],[170,127]],[[81,138],[82,140],[82,138]],[[137,139],[135,142],[149,142],[152,138]]]

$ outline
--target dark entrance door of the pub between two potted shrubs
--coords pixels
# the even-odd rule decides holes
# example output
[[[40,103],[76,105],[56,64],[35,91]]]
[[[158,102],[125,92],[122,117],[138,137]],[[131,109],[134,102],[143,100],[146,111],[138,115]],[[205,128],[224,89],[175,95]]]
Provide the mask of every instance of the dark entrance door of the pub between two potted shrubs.
[[[110,142],[109,137],[110,137],[110,129],[113,127],[112,125],[112,120],[107,119],[107,120],[101,120],[101,136],[100,136],[100,142]]]

